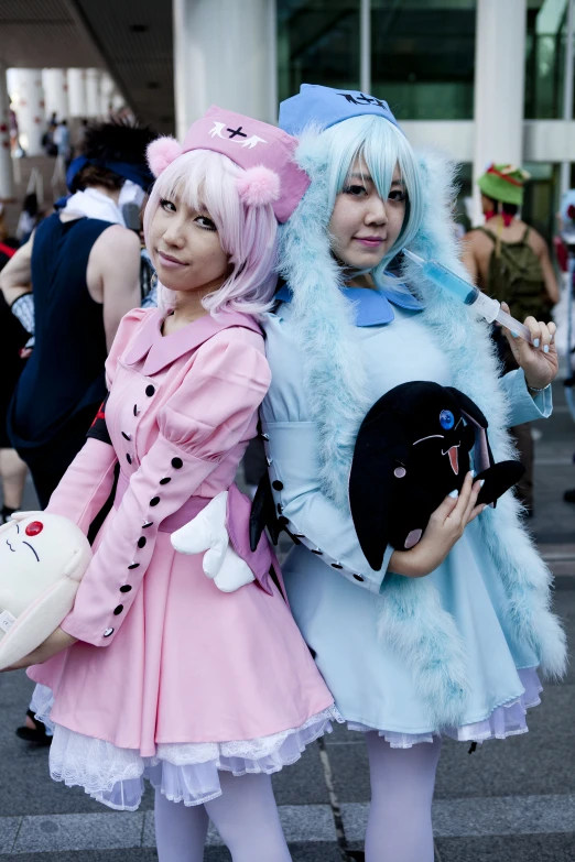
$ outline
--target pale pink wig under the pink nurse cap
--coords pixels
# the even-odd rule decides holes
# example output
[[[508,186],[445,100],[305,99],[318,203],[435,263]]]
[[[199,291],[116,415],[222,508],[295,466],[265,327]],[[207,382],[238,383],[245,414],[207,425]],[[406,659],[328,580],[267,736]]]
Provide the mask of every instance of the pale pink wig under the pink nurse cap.
[[[148,251],[150,226],[164,198],[173,200],[177,196],[193,209],[207,210],[215,222],[221,248],[229,254],[234,270],[221,287],[203,301],[213,315],[226,310],[261,314],[270,308],[275,288],[278,221],[271,199],[261,204],[258,183],[250,186],[251,193],[243,188],[241,181],[247,173],[226,155],[193,150],[162,170],[145,207],[143,227]],[[268,178],[261,179],[265,186]],[[270,197],[269,190],[265,194]],[[161,284],[159,304],[164,308],[173,304],[173,292]]]

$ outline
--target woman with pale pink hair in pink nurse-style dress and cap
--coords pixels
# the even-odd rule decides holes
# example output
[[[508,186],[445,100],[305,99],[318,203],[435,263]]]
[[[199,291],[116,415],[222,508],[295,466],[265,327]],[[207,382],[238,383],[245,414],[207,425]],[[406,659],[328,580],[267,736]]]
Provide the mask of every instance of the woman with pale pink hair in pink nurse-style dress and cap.
[[[88,532],[116,476],[72,612],[19,665],[43,684],[51,774],[118,810],[138,808],[148,777],[162,862],[199,862],[208,817],[235,862],[289,860],[270,775],[337,717],[232,483],[270,383],[254,316],[274,291],[278,222],[308,184],[294,146],[215,107],[183,146],[150,145],[161,307],[120,324],[108,397],[47,509]]]

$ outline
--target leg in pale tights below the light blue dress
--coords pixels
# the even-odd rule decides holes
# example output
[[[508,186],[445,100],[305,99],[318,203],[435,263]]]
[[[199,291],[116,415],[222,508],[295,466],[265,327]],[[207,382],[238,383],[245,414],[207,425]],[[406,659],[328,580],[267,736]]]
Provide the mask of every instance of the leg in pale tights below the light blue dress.
[[[366,862],[433,862],[431,807],[441,739],[392,749],[366,733],[371,805]]]

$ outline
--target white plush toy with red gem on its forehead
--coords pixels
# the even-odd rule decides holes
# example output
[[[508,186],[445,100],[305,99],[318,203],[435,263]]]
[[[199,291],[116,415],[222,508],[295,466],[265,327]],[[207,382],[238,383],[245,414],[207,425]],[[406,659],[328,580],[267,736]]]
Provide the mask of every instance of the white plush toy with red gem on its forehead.
[[[57,629],[90,560],[88,539],[62,515],[18,512],[0,527],[0,670]]]

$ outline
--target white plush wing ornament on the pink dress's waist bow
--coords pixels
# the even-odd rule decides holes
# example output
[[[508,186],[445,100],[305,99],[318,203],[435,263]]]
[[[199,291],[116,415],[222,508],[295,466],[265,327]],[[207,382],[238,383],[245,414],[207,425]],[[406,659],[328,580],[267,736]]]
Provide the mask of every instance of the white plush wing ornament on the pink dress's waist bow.
[[[229,544],[226,530],[228,492],[221,491],[202,512],[175,533],[171,542],[180,554],[200,554],[204,574],[218,590],[234,592],[256,580],[253,574]]]

